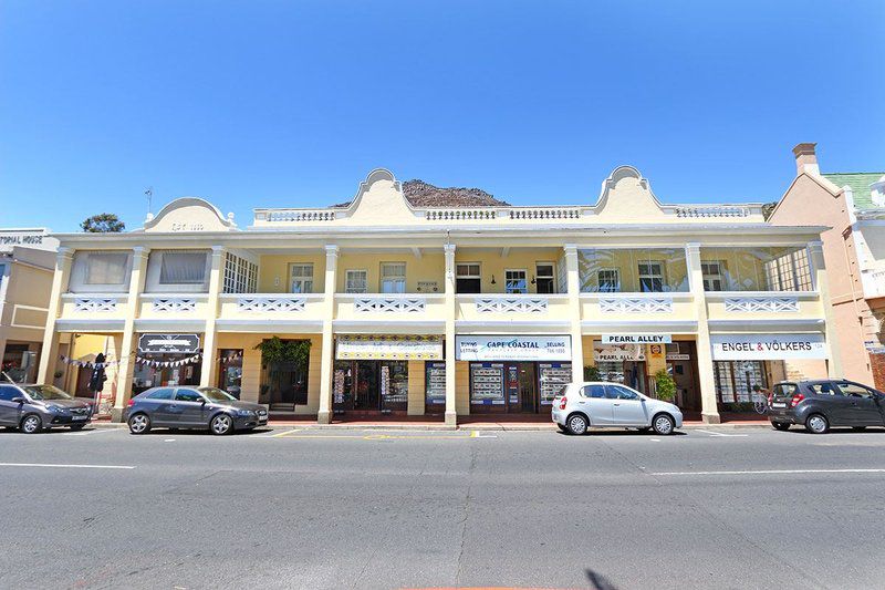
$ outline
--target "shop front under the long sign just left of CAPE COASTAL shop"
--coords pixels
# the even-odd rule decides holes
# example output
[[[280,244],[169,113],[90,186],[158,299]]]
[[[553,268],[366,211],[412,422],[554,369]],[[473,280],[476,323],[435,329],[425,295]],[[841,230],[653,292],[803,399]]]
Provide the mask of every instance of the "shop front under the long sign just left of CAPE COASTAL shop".
[[[445,407],[442,339],[438,335],[341,334],[335,341],[332,403],[335,413],[405,413],[409,393],[427,396],[428,405]],[[425,364],[424,384],[409,384],[409,365]],[[441,369],[440,369],[441,366]],[[418,373],[418,377],[420,374]],[[409,387],[425,386],[425,392]],[[441,397],[439,387],[441,385]]]

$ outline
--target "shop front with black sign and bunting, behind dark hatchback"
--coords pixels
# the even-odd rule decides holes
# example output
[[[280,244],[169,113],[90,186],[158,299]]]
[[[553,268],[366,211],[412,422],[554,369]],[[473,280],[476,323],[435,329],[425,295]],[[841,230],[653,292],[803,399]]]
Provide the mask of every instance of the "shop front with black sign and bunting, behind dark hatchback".
[[[160,385],[200,384],[199,334],[138,334],[132,393]]]

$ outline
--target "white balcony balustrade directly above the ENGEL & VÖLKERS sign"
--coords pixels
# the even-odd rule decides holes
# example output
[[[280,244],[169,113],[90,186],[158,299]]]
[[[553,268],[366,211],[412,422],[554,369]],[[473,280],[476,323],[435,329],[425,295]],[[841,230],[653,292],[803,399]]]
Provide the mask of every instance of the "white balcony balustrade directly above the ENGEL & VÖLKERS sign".
[[[813,330],[824,321],[816,291],[715,291],[706,299],[712,329]]]

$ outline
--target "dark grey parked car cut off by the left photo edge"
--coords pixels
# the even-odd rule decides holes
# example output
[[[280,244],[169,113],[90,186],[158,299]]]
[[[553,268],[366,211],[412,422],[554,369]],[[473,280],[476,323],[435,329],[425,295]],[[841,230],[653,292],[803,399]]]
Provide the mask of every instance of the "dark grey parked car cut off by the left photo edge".
[[[92,406],[54,385],[0,383],[0,426],[27,434],[53,426],[83,428],[92,420]]]

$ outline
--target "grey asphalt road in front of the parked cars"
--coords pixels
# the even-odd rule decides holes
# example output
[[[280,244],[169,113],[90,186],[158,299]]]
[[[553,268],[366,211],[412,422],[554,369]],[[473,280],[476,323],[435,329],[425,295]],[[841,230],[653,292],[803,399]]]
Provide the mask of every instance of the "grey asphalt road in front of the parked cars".
[[[0,432],[0,588],[882,588],[883,451],[882,431]]]

